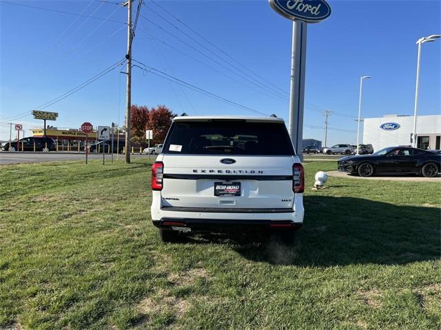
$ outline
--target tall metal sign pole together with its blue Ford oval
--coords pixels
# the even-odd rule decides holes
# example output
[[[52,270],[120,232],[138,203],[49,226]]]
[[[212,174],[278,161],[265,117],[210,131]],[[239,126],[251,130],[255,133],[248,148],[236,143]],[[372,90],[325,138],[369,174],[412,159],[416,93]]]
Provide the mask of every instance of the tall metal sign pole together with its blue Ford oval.
[[[307,23],[323,21],[331,14],[331,8],[325,0],[269,0],[269,5],[293,21],[288,130],[296,152],[302,157]]]

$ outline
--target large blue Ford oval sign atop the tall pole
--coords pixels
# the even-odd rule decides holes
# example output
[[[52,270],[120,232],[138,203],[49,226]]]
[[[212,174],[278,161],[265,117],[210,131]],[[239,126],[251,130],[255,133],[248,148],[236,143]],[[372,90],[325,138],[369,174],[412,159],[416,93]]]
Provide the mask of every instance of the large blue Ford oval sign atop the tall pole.
[[[331,14],[325,0],[269,0],[269,5],[287,19],[316,23]]]

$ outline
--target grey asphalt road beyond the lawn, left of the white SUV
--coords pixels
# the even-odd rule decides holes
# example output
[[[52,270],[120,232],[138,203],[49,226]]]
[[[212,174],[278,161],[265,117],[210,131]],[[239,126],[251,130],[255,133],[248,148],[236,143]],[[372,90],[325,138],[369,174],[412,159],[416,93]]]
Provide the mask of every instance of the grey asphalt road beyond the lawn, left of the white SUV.
[[[116,159],[116,154],[113,155]],[[144,157],[147,155],[132,155],[132,157]],[[154,155],[150,155],[150,158]],[[102,154],[91,153],[89,159],[103,159]],[[0,165],[20,164],[20,163],[40,163],[40,162],[59,162],[65,160],[85,160],[84,153],[0,153]],[[119,155],[119,159],[124,159],[124,155]],[[110,162],[110,155],[105,155],[105,161]]]

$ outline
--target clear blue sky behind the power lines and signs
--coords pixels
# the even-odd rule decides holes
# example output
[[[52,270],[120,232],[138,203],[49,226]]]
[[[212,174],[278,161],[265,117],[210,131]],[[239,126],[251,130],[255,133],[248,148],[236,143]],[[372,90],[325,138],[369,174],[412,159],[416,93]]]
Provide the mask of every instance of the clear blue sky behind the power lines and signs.
[[[78,14],[83,12],[87,16],[121,23],[0,1],[1,140],[9,137],[6,120],[64,94],[123,58],[127,38],[122,23],[127,20],[127,10],[114,4],[118,0],[108,0],[110,3],[97,0],[9,1]],[[211,61],[200,52],[236,71],[216,57],[217,54],[259,80],[199,39],[157,5],[148,0],[145,2],[147,8],[143,6],[141,9],[143,17],[139,19],[133,45],[136,60],[249,108],[276,113],[287,120],[287,98],[280,99],[271,91],[260,89]],[[288,95],[291,22],[276,14],[266,0],[158,3],[234,60],[281,89],[280,93]],[[305,125],[324,126],[320,111],[336,111],[330,117],[328,144],[355,142],[356,122],[353,118],[358,109],[359,79],[364,75],[372,76],[372,79],[365,82],[363,90],[363,117],[391,113],[411,115],[416,78],[416,40],[420,36],[441,34],[440,3],[330,0],[332,14],[329,19],[311,24],[308,28]],[[148,7],[212,52],[176,30]],[[441,40],[422,46],[420,114],[440,113],[440,50]],[[45,109],[59,112],[59,120],[49,123],[65,127],[78,127],[86,120],[94,125],[110,124],[112,121],[123,124],[125,75],[119,73],[122,69],[114,69],[88,87]],[[252,82],[256,83],[255,80]],[[231,104],[173,85],[136,67],[132,84],[134,104],[149,107],[165,104],[175,113],[253,115]],[[25,129],[41,125],[41,121],[32,120],[30,115],[12,121],[22,122]],[[323,140],[323,136],[323,129],[304,129],[305,138]]]

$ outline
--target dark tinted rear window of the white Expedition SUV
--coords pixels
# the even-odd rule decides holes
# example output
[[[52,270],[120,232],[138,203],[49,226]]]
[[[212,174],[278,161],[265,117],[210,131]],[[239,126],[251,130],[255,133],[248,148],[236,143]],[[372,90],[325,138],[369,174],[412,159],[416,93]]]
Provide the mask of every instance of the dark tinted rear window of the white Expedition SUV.
[[[174,122],[164,153],[189,155],[294,155],[283,122],[212,120]]]

